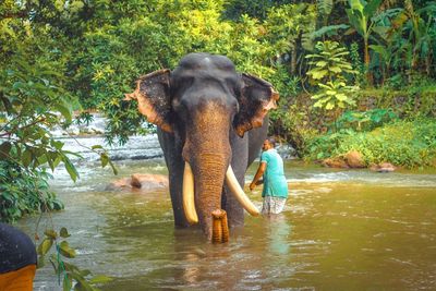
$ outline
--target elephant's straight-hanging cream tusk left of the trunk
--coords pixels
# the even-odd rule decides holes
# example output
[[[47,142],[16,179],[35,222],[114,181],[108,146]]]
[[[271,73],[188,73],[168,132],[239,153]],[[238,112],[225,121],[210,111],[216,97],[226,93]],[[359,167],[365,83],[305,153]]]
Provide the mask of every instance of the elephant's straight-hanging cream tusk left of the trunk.
[[[192,174],[191,166],[187,161],[184,163],[183,172],[183,209],[187,222],[191,225],[198,222],[194,201],[194,175]]]

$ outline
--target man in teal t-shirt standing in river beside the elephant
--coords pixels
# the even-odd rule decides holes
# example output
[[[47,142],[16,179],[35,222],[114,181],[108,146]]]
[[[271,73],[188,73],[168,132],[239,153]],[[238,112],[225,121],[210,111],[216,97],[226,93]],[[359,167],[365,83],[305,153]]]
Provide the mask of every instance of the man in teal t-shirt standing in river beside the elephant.
[[[253,191],[256,185],[264,183],[262,213],[267,215],[281,213],[288,198],[288,183],[284,178],[283,160],[275,147],[276,141],[274,137],[265,140],[262,147],[261,165],[253,182],[250,184],[250,190]],[[259,181],[262,175],[263,181]]]

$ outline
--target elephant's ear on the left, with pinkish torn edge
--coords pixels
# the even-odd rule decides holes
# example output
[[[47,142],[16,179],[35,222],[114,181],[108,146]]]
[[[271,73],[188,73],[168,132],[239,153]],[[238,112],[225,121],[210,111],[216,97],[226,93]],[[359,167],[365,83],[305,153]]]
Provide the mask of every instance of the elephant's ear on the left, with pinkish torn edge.
[[[136,81],[136,89],[125,94],[124,100],[137,100],[137,109],[147,121],[172,132],[170,122],[170,70],[159,70],[141,76]]]

